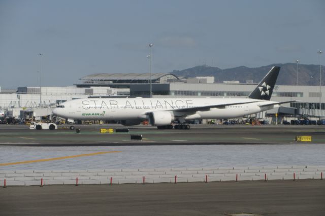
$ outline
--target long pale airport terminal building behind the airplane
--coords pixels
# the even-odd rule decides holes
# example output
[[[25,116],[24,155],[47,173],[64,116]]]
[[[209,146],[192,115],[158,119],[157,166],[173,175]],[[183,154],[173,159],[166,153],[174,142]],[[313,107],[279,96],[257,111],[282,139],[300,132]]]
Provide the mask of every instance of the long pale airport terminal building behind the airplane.
[[[72,87],[19,87],[17,90],[0,88],[1,109],[35,109],[55,107],[60,102],[87,97],[149,97],[149,74],[94,74],[79,79]],[[152,74],[153,97],[247,97],[256,83],[214,83],[214,77],[178,78],[173,74]],[[41,89],[41,91],[40,91]],[[320,91],[319,91],[320,90]],[[41,93],[41,94],[40,94]],[[280,114],[295,117],[325,117],[325,87],[275,86],[274,101],[293,101],[280,109],[259,114]]]

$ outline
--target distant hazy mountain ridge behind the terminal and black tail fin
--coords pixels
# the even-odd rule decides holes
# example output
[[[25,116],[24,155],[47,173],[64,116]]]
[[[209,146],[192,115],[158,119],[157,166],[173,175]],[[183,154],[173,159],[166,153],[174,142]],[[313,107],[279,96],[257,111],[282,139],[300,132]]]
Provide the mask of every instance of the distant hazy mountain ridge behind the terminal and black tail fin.
[[[178,77],[207,77],[213,76],[216,83],[223,81],[239,81],[246,83],[246,80],[253,80],[253,83],[261,81],[273,66],[280,66],[280,74],[277,85],[296,85],[297,64],[270,64],[261,67],[239,66],[228,69],[220,69],[207,65],[195,66],[184,70],[173,70],[171,73]],[[321,83],[325,85],[325,67],[321,66]],[[311,78],[312,77],[312,78]],[[298,64],[298,85],[309,86],[319,85],[319,65]]]

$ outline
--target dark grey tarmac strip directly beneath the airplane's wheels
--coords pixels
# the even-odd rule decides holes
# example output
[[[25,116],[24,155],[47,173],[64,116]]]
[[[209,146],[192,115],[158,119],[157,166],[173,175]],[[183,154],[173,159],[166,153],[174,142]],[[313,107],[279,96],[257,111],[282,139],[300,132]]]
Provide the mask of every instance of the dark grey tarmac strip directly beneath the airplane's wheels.
[[[317,125],[192,125],[190,130],[157,130],[152,126],[75,125],[76,130],[29,130],[27,125],[0,125],[0,145],[5,146],[135,146],[290,144],[296,136],[312,136],[325,143],[325,126]],[[128,133],[101,134],[100,128],[128,128]],[[143,140],[131,140],[142,135]]]

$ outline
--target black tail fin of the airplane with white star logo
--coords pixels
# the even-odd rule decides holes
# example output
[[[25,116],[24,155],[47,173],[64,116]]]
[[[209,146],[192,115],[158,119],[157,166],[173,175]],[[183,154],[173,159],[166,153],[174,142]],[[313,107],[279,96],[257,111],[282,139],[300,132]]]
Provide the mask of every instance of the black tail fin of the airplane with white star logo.
[[[270,100],[275,86],[276,79],[278,78],[280,67],[274,66],[269,73],[263,78],[257,87],[250,93],[248,98],[259,100]]]

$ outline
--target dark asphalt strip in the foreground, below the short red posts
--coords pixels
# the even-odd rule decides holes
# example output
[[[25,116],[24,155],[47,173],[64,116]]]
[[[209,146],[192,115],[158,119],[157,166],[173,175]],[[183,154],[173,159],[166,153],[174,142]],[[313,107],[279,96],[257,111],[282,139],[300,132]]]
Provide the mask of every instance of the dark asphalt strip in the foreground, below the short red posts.
[[[0,215],[324,215],[324,181],[7,187]]]

